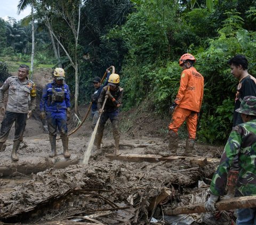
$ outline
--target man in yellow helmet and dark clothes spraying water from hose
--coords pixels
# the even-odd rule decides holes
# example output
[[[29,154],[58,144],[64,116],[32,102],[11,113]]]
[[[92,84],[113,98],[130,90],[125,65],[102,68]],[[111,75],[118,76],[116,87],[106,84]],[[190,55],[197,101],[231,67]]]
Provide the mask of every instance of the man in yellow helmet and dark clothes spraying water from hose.
[[[108,97],[104,109],[102,105],[105,100],[105,96]],[[122,104],[123,88],[119,87],[119,75],[112,73],[108,79],[108,85],[103,87],[99,99],[98,99],[98,110],[101,113],[100,123],[95,138],[95,144],[100,149],[101,139],[103,136],[104,126],[108,119],[112,123],[113,136],[115,139],[115,155],[119,155],[119,107]]]

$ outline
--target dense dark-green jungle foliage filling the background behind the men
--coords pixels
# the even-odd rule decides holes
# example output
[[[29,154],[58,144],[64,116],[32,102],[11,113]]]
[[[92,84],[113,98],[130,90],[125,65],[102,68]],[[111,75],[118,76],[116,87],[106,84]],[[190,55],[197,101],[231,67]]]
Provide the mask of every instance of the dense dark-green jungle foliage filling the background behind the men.
[[[65,10],[77,13],[74,9],[79,1],[61,1],[61,4],[58,1],[37,0],[35,3],[41,12],[42,3],[51,6],[47,18],[55,33],[69,54],[78,56],[80,103],[90,101],[92,78],[102,77],[108,66],[115,65],[125,89],[123,110],[147,99],[150,110],[167,114],[179,88],[179,57],[189,52],[195,55],[195,67],[205,78],[197,138],[210,143],[226,141],[232,126],[238,82],[231,76],[227,61],[236,54],[245,55],[250,62],[250,74],[256,76],[255,0],[83,1],[76,49],[73,34],[59,7],[63,4]],[[38,18],[42,25],[43,14]],[[0,53],[29,60],[29,29],[19,23],[10,24],[0,20],[0,33],[6,29],[5,37],[0,39]],[[45,34],[45,31],[36,34]],[[50,49],[49,37],[47,40],[45,37],[42,36],[44,43],[40,44],[37,36],[37,49]],[[52,62],[53,54],[51,50],[36,50],[35,56],[40,62]],[[74,91],[74,69],[62,50],[60,59]]]

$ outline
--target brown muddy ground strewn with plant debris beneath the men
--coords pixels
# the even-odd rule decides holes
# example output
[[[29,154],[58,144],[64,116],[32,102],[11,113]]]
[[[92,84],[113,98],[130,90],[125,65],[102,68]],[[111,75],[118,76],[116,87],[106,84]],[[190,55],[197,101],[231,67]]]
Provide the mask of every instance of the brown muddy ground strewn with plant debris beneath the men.
[[[42,89],[49,71],[35,76]],[[88,106],[80,107],[83,118]],[[74,114],[73,114],[74,115]],[[77,126],[75,116],[69,130]],[[169,118],[139,109],[121,113],[122,154],[157,154],[167,148]],[[2,121],[2,116],[0,116]],[[109,161],[114,152],[107,123],[101,151],[93,149],[89,164],[82,164],[92,133],[88,118],[69,138],[71,158],[65,160],[61,141],[50,159],[50,143],[38,111],[27,121],[19,161],[10,159],[13,130],[0,153],[0,224],[231,224],[232,212],[166,216],[175,206],[205,202],[218,160],[205,166],[189,160],[172,162]],[[127,147],[127,145],[135,145]],[[136,147],[146,144],[146,147]],[[178,153],[185,148],[180,141]],[[219,159],[223,146],[196,144],[194,156]],[[166,194],[167,193],[167,194]],[[163,201],[154,201],[166,194]],[[234,223],[233,223],[234,224]]]

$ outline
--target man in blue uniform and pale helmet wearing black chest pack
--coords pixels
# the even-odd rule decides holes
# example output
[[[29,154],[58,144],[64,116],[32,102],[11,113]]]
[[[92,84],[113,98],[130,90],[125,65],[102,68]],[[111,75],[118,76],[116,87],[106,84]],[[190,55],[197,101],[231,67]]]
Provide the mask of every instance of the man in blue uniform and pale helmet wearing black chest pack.
[[[63,155],[70,157],[68,152],[68,128],[67,121],[70,118],[70,97],[69,87],[64,83],[65,71],[56,68],[53,72],[53,81],[45,85],[40,102],[41,119],[47,120],[49,139],[51,144],[50,157],[54,157],[56,152],[57,127],[62,140]]]

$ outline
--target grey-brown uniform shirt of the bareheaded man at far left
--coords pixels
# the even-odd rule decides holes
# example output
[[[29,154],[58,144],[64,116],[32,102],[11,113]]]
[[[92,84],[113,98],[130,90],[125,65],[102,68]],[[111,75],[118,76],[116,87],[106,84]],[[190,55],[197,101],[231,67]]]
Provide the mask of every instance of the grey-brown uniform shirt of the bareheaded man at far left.
[[[7,78],[0,88],[1,107],[3,106],[6,90],[9,90],[6,111],[28,113],[28,110],[35,110],[36,87],[33,81],[27,79],[21,82],[17,76]]]

